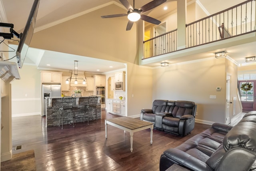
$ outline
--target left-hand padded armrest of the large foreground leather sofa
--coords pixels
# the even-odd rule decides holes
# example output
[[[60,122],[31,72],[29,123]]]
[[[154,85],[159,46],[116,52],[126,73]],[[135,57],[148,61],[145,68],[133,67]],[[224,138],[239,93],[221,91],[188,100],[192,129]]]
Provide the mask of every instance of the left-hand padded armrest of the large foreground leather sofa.
[[[190,170],[212,171],[212,168],[210,168],[206,163],[179,149],[167,149],[164,151],[164,155],[174,161],[174,163]]]

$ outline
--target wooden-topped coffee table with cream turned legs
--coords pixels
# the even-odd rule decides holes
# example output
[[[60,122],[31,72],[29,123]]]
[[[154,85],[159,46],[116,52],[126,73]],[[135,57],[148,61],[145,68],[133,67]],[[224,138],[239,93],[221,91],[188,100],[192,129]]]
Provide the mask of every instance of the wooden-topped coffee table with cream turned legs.
[[[107,139],[107,134],[108,134],[108,124],[112,125],[114,127],[120,128],[125,131],[130,132],[130,141],[131,141],[131,152],[132,152],[132,142],[133,142],[133,133],[137,131],[141,131],[144,129],[150,128],[150,143],[153,143],[153,123],[151,122],[146,122],[146,121],[141,121],[139,119],[134,119],[131,117],[115,117],[112,119],[106,119],[105,120],[105,126],[106,126],[106,139]]]

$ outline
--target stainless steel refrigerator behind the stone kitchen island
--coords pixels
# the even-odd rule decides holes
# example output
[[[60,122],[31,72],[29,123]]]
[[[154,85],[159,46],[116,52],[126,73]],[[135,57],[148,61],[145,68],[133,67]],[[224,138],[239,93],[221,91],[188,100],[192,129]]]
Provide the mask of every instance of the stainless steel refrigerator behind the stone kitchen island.
[[[61,85],[60,84],[42,84],[42,116],[46,115],[46,99],[45,97],[61,97]]]

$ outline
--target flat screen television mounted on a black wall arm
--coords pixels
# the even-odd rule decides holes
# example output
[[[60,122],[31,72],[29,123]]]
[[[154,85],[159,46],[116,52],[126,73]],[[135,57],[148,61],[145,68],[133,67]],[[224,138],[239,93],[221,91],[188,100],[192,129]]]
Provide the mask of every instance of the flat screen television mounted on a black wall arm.
[[[34,28],[36,24],[36,16],[37,11],[39,7],[39,1],[40,0],[34,0],[33,6],[30,10],[30,14],[28,16],[28,20],[26,22],[26,26],[24,28],[24,31],[20,37],[20,42],[18,44],[18,48],[16,51],[16,57],[18,60],[18,67],[22,68],[22,65],[24,63],[24,60],[26,58],[26,54],[28,52],[28,47],[30,44],[30,41],[32,39]]]

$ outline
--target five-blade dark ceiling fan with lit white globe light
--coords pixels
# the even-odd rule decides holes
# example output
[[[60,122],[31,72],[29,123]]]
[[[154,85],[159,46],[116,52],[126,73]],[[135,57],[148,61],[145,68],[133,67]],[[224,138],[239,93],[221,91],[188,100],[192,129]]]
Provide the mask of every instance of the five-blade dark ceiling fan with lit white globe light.
[[[134,0],[133,0],[133,8],[127,0],[119,0],[119,1],[128,10],[127,14],[113,14],[113,15],[108,15],[108,16],[101,16],[101,18],[114,18],[114,17],[127,16],[129,21],[126,26],[126,31],[131,30],[133,23],[138,21],[139,19],[142,19],[146,22],[150,22],[152,24],[157,24],[157,25],[161,23],[161,21],[156,20],[155,18],[152,18],[150,16],[143,15],[141,13],[151,10],[153,8],[156,8],[157,6],[166,2],[166,0],[153,0],[153,1],[149,2],[148,4],[140,7],[139,9],[134,8]]]

